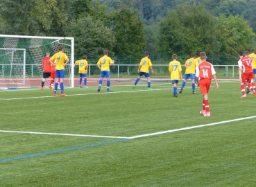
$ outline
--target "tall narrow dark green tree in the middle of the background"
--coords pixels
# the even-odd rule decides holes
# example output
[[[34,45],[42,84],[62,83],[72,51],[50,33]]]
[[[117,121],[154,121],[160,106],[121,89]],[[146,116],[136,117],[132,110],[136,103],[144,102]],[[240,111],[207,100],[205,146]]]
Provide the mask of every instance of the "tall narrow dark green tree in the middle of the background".
[[[114,46],[115,53],[126,55],[143,53],[146,48],[144,26],[134,12],[127,7],[114,12],[112,26],[117,39],[117,44]]]

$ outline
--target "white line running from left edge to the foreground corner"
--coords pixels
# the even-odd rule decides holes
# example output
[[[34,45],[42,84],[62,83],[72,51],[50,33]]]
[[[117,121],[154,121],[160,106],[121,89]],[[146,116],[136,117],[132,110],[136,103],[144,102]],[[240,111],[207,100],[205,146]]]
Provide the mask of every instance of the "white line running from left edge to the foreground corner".
[[[110,138],[110,139],[128,139],[128,137],[122,136],[99,136],[99,135],[86,135],[86,134],[62,134],[62,133],[48,133],[48,132],[22,132],[12,130],[0,130],[0,132],[8,133],[21,133],[21,134],[43,134],[43,135],[59,135],[59,136],[83,136],[83,137],[94,137],[94,138]]]

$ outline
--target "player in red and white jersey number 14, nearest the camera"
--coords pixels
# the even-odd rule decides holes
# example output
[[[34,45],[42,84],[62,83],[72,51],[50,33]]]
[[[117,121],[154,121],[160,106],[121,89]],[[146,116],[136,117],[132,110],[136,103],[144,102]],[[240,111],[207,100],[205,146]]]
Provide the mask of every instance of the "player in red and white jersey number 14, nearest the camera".
[[[214,66],[210,62],[206,62],[206,53],[200,53],[200,59],[202,62],[196,66],[196,80],[197,84],[200,87],[201,94],[203,96],[203,109],[200,111],[200,114],[203,114],[205,117],[210,117],[210,107],[208,101],[208,91],[211,86],[212,77],[216,83],[216,89],[219,89],[219,84],[216,78],[216,72],[214,70]],[[206,114],[205,114],[206,111]]]

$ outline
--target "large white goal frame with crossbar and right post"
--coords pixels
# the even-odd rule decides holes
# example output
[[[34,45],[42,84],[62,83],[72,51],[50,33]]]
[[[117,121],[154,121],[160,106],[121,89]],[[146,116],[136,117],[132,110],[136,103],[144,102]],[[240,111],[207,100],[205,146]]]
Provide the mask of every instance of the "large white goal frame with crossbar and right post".
[[[43,37],[43,36],[26,36],[26,35],[0,35],[0,37],[15,37],[15,38],[28,38],[28,39],[69,39],[71,41],[71,87],[74,88],[74,37]],[[17,48],[9,48],[9,49],[17,49]],[[26,56],[25,56],[26,57]],[[26,65],[26,58],[25,64]],[[24,68],[26,71],[26,68]],[[26,72],[25,72],[26,73]],[[25,75],[24,73],[24,75]],[[25,81],[25,80],[24,80]]]

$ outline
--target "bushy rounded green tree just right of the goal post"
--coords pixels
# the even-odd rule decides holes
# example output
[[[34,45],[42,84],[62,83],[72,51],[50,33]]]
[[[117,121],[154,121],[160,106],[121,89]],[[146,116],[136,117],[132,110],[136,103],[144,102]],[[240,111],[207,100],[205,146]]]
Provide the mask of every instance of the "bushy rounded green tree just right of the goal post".
[[[66,35],[74,37],[76,54],[102,54],[104,49],[112,53],[116,44],[112,28],[89,16],[71,22],[66,28]]]

